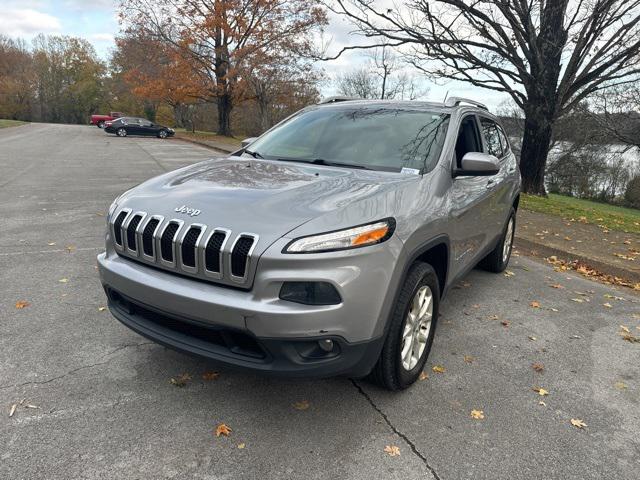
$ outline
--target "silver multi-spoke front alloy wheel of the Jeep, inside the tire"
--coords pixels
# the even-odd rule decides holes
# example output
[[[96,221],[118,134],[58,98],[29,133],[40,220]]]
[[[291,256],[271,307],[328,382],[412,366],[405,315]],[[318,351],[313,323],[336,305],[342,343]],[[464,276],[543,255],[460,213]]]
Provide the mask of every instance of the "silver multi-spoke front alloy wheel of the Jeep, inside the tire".
[[[431,331],[433,316],[433,292],[428,285],[423,285],[415,293],[402,332],[400,357],[402,367],[410,371],[418,364]]]

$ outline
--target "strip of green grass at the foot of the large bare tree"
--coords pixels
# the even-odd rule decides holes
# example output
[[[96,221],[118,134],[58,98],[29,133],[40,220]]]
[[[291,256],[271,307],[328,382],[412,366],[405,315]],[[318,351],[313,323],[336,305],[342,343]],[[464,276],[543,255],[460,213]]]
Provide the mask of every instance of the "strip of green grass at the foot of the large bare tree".
[[[520,205],[526,210],[556,215],[567,220],[602,225],[609,230],[640,234],[640,210],[634,208],[607,205],[553,193],[547,198],[523,194]]]

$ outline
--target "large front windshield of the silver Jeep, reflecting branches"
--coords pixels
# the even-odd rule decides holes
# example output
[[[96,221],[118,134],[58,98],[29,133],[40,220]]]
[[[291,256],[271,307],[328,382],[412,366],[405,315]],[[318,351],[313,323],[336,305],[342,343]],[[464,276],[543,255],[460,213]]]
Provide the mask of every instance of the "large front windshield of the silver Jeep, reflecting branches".
[[[335,163],[400,171],[431,170],[438,161],[449,115],[387,106],[305,110],[248,147],[266,159]]]

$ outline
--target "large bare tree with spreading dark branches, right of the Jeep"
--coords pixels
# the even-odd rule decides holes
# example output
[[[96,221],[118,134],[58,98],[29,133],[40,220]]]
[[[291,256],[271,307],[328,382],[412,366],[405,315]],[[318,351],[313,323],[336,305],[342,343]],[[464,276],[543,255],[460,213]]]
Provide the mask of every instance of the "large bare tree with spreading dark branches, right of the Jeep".
[[[505,92],[524,110],[523,189],[544,194],[556,121],[640,72],[640,0],[326,0],[361,35],[344,51],[388,44],[425,74]]]

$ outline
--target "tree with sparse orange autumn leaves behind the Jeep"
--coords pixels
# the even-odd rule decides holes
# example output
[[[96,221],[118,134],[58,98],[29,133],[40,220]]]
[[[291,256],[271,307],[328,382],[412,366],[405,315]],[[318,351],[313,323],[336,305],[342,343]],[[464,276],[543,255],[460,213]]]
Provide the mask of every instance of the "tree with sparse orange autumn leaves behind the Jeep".
[[[170,45],[218,106],[218,133],[231,135],[231,111],[255,66],[279,51],[304,56],[327,23],[312,0],[122,0],[126,31]]]

